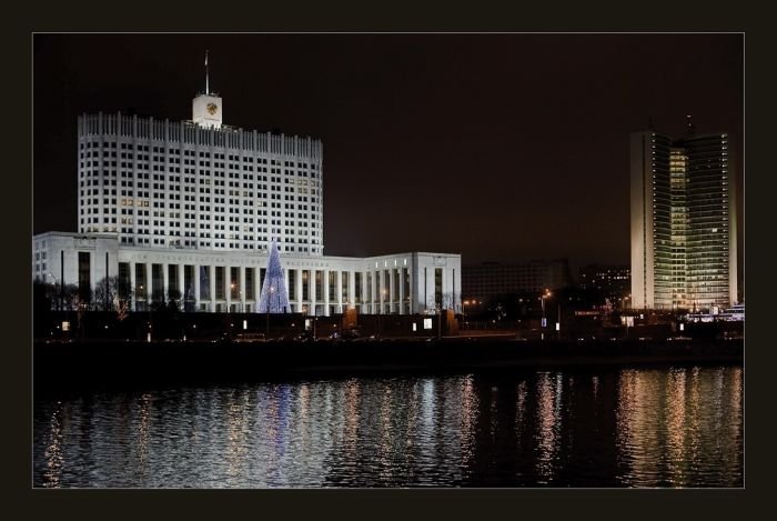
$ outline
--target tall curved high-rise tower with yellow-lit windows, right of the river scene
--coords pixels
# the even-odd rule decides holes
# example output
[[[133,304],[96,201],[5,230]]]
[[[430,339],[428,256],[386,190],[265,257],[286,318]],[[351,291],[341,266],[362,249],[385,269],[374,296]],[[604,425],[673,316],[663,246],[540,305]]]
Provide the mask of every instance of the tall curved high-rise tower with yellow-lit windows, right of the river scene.
[[[737,300],[736,194],[727,133],[630,138],[634,308],[709,309]]]

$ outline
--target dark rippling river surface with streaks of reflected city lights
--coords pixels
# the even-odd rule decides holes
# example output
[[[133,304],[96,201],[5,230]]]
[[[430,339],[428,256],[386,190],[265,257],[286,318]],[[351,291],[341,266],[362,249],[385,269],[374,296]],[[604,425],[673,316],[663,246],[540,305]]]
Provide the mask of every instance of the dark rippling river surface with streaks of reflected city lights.
[[[36,487],[741,487],[740,367],[56,397]]]

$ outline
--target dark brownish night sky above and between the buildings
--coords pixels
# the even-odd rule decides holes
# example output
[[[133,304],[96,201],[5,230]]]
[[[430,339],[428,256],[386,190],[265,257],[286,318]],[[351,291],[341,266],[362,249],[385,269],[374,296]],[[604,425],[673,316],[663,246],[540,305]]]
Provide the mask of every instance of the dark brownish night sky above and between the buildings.
[[[226,124],[323,141],[325,254],[627,264],[630,131],[727,131],[741,187],[743,40],[37,34],[33,232],[75,231],[77,116],[190,119],[209,49]]]

